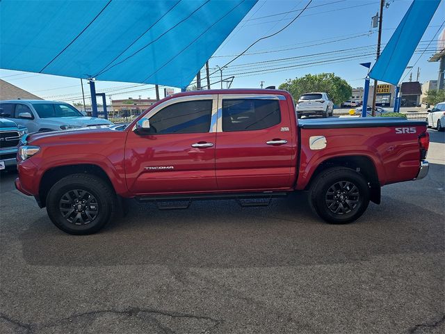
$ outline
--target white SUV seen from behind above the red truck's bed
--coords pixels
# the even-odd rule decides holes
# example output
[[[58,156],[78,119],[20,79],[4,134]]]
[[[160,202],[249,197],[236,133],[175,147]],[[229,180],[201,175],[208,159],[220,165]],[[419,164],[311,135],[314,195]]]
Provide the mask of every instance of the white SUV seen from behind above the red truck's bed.
[[[296,106],[297,117],[332,116],[334,103],[327,93],[307,93],[301,95]]]

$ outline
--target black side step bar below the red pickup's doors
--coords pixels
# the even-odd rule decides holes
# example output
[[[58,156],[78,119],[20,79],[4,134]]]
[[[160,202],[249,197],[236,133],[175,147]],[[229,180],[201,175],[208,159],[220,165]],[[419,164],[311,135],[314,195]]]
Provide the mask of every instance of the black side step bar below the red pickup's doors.
[[[139,196],[138,202],[155,202],[158,209],[188,209],[192,200],[229,200],[235,199],[241,207],[263,207],[272,198],[285,197],[286,192],[261,191],[259,193],[197,193],[175,196]],[[184,202],[183,205],[161,205],[161,202]]]

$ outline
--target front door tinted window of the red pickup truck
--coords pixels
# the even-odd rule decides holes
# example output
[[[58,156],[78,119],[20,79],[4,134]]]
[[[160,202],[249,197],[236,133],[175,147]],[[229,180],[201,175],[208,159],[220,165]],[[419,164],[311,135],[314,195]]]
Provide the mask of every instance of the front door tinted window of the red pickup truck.
[[[166,106],[150,118],[150,132],[156,134],[209,132],[211,104],[211,100],[200,100]]]

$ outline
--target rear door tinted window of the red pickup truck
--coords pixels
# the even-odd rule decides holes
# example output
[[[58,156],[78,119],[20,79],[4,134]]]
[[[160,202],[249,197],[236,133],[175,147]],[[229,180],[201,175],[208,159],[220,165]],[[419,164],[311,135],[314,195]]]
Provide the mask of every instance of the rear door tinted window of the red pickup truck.
[[[223,100],[223,131],[259,130],[280,124],[278,100]]]

